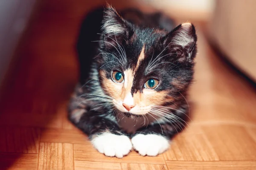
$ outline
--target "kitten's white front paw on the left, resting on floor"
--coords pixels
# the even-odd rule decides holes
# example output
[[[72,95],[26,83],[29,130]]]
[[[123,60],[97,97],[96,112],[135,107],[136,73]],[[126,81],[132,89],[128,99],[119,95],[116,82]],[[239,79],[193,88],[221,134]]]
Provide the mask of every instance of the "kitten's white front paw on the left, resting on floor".
[[[96,136],[91,141],[94,147],[106,156],[116,156],[122,158],[132,149],[131,140],[128,136],[103,133]]]

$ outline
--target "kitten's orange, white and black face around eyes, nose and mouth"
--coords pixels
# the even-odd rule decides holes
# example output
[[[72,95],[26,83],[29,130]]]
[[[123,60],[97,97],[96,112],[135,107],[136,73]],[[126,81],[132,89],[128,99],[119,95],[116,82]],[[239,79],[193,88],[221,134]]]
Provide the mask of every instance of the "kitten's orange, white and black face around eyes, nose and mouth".
[[[113,98],[116,108],[122,112],[142,115],[148,113],[152,106],[172,102],[172,97],[168,96],[168,89],[164,88],[164,75],[157,71],[149,72],[143,64],[145,57],[143,47],[135,61],[127,59],[126,56],[129,64],[125,67],[120,63],[113,63],[112,66],[108,66],[108,71],[100,71],[102,87]]]

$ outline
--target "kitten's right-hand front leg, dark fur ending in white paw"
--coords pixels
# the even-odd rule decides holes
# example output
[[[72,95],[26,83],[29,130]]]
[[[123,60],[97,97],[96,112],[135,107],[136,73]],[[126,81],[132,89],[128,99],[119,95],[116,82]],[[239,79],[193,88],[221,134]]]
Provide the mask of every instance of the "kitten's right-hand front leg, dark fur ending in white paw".
[[[186,109],[180,108],[185,113]],[[148,127],[143,127],[132,136],[131,142],[140,155],[157,156],[169,148],[170,139],[179,133],[185,122],[181,120],[170,122],[154,122]]]

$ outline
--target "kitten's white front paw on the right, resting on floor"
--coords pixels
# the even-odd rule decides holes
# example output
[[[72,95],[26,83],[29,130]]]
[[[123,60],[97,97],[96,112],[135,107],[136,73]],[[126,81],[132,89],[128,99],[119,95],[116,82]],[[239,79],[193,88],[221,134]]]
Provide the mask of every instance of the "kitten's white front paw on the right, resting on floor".
[[[166,138],[155,134],[138,134],[131,139],[131,143],[142,156],[157,156],[169,147],[169,141]]]

